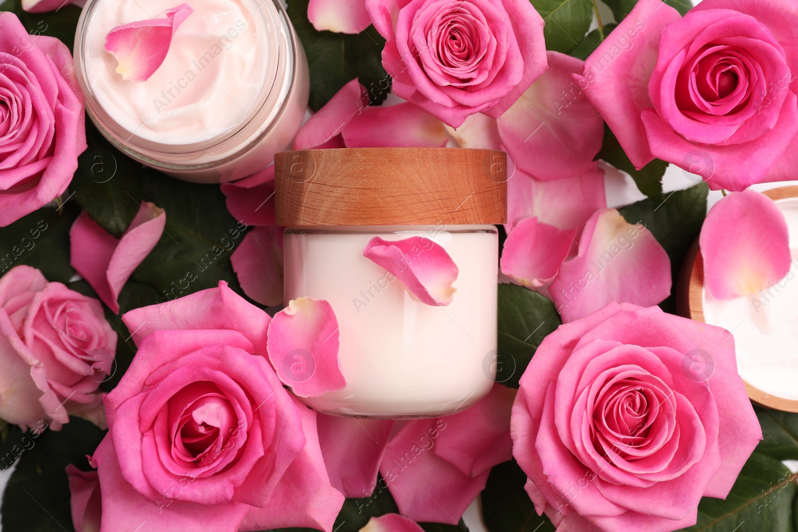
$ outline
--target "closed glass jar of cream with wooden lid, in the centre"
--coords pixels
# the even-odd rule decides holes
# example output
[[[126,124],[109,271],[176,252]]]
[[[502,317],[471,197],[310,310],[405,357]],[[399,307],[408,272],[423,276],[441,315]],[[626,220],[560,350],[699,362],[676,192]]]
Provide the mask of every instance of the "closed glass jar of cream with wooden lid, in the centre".
[[[499,253],[493,224],[506,222],[506,175],[506,155],[493,150],[277,154],[285,303],[306,296],[330,303],[346,379],[342,390],[302,401],[339,416],[431,417],[468,408],[490,391]],[[392,252],[398,255],[386,259]],[[454,281],[421,290],[439,268],[455,272]]]

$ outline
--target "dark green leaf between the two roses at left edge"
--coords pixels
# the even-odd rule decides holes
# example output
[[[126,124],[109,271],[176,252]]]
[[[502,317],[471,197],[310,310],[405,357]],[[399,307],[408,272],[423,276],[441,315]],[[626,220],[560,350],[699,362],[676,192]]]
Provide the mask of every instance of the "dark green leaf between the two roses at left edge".
[[[69,229],[80,213],[74,199],[60,209],[50,205],[23,216],[0,231],[0,275],[27,264],[41,270],[48,281],[69,282]]]

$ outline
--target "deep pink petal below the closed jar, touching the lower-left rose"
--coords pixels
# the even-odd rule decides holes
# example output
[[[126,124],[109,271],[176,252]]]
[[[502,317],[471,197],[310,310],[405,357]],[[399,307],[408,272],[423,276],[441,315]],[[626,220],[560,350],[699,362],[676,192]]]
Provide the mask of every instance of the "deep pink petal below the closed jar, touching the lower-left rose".
[[[330,483],[346,497],[369,497],[377,483],[393,420],[356,420],[319,413],[318,442]]]

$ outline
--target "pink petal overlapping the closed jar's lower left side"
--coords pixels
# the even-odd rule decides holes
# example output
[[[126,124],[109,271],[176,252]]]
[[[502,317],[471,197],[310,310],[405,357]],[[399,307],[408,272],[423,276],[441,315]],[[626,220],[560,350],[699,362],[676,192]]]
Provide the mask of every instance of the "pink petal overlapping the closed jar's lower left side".
[[[346,386],[338,361],[338,320],[324,300],[293,299],[269,325],[269,360],[283,384],[300,397]]]

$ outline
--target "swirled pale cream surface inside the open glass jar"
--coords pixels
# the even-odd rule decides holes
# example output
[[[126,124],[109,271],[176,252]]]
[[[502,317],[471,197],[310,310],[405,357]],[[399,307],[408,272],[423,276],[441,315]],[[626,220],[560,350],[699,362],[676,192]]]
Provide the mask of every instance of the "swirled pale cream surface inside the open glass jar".
[[[253,110],[270,61],[255,0],[195,0],[155,73],[123,80],[105,36],[116,26],[163,18],[178,3],[101,0],[85,36],[85,70],[99,104],[128,132],[160,144],[194,144],[233,128]]]

